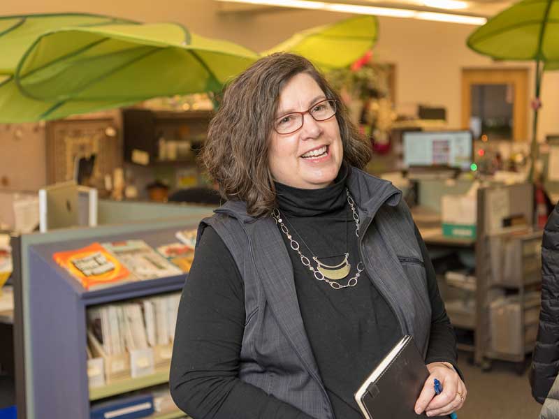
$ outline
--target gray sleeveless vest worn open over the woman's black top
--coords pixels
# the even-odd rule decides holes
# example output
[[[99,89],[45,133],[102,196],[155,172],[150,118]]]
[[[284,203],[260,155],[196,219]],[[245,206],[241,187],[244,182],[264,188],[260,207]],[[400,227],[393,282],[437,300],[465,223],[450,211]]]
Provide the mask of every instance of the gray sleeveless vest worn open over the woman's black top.
[[[402,333],[413,335],[425,356],[431,307],[407,205],[390,182],[355,168],[347,186],[361,220],[365,270],[393,309]],[[215,212],[201,222],[198,236],[205,226],[215,229],[245,284],[240,379],[309,416],[333,419],[301,318],[291,260],[275,221],[270,216],[254,219],[240,201],[228,201]]]

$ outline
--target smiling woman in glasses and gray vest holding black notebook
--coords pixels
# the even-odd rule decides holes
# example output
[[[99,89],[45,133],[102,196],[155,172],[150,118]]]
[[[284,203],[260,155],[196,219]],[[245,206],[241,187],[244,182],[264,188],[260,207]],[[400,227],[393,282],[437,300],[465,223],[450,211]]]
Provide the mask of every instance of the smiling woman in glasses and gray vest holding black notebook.
[[[354,392],[404,334],[431,372],[416,411],[462,406],[433,266],[400,191],[358,169],[369,159],[303,57],[228,86],[203,152],[228,203],[198,230],[170,372],[190,416],[361,418]]]

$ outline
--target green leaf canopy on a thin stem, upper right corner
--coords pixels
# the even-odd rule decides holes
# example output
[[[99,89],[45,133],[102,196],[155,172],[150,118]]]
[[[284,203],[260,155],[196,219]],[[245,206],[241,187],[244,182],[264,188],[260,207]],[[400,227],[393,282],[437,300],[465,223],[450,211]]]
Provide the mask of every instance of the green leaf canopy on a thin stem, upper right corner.
[[[495,59],[535,60],[536,98],[532,103],[532,166],[537,159],[537,116],[542,72],[559,69],[559,0],[523,0],[492,17],[467,39],[467,45]]]

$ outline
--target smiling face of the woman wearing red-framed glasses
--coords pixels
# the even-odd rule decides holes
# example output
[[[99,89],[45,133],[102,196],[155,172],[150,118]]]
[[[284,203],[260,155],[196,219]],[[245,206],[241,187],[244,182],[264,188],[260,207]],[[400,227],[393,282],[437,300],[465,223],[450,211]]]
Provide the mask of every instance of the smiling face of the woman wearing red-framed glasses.
[[[307,73],[289,80],[279,94],[274,121],[289,112],[305,112],[326,99],[324,91]],[[335,115],[315,121],[307,112],[303,126],[291,134],[270,135],[268,165],[277,182],[301,189],[319,189],[331,184],[342,166],[344,151]]]

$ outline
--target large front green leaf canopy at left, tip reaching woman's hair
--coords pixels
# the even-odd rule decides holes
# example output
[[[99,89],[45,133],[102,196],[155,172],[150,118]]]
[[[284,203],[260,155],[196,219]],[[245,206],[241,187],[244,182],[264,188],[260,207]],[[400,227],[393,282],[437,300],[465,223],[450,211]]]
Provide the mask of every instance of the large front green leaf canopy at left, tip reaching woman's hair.
[[[157,96],[220,91],[256,59],[255,52],[190,34],[179,24],[66,27],[38,36],[13,80],[0,86],[2,111],[2,101],[10,96],[21,94],[29,101],[23,116],[0,112],[0,122],[55,119]]]

